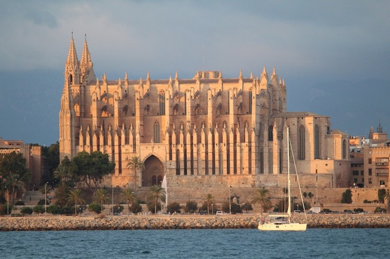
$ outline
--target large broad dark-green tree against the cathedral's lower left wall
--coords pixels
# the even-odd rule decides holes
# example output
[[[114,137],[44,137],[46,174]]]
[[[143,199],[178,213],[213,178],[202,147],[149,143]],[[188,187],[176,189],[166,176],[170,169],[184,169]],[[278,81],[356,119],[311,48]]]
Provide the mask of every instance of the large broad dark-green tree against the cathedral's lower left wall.
[[[115,163],[109,161],[108,154],[100,151],[91,154],[80,152],[72,159],[72,165],[75,175],[80,177],[91,191],[99,188],[99,182],[115,168]]]

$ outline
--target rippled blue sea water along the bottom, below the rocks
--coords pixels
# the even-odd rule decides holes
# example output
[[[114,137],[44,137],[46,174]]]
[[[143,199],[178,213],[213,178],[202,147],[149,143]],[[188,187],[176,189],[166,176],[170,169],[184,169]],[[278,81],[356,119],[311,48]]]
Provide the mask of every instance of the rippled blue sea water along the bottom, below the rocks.
[[[0,232],[2,258],[389,258],[390,229]]]

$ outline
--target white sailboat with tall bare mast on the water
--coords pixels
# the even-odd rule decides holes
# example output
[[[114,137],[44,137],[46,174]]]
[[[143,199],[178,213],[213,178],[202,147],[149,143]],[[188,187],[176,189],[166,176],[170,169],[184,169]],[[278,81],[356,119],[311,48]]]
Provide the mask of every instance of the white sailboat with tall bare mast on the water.
[[[287,184],[288,184],[288,206],[285,214],[269,214],[267,221],[259,222],[259,230],[274,231],[306,231],[307,223],[294,223],[291,221],[291,193],[290,193],[290,146],[289,128],[287,127]],[[301,193],[302,197],[302,193]]]

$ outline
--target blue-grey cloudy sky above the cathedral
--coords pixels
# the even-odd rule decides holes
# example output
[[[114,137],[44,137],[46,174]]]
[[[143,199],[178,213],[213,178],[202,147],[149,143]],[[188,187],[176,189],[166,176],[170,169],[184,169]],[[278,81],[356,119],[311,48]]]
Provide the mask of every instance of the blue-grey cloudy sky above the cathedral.
[[[87,39],[97,78],[268,74],[287,111],[332,117],[367,136],[390,128],[389,1],[0,0],[0,137],[59,139],[65,61]]]

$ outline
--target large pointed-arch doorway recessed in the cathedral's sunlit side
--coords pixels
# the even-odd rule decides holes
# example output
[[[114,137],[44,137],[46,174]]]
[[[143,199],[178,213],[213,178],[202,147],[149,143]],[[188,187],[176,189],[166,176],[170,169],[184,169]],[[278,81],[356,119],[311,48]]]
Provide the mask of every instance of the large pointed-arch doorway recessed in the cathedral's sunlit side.
[[[145,162],[145,169],[142,171],[142,187],[160,185],[164,178],[163,163],[157,157],[151,155]]]

